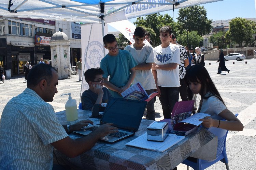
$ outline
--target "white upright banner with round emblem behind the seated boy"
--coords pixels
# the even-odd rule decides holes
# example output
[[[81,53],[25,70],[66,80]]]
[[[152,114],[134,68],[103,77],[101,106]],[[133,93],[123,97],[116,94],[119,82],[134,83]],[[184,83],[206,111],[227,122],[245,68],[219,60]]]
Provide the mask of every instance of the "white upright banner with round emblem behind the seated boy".
[[[82,93],[89,88],[84,79],[84,72],[89,68],[100,67],[100,61],[108,51],[104,48],[102,26],[99,23],[81,25],[82,33]],[[108,34],[108,27],[104,27],[104,35]],[[80,97],[81,97],[80,95]]]

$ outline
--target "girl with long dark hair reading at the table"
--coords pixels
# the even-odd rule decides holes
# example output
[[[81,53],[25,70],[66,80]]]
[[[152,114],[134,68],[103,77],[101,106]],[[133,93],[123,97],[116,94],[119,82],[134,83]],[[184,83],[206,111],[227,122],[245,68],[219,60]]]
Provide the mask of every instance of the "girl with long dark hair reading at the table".
[[[190,92],[201,96],[197,112],[211,115],[199,119],[203,121],[202,124],[205,128],[216,127],[230,131],[243,130],[244,127],[240,120],[227,109],[207,69],[199,64],[191,66],[186,73],[185,81]],[[223,119],[227,121],[221,121]]]

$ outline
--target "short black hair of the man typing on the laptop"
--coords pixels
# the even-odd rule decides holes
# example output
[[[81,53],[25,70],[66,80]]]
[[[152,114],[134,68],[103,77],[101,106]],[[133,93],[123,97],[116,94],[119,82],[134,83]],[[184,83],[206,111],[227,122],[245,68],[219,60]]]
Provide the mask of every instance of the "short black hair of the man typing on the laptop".
[[[54,67],[48,64],[37,64],[33,66],[28,73],[27,87],[35,87],[43,79],[50,85],[53,77],[52,71],[58,72]]]

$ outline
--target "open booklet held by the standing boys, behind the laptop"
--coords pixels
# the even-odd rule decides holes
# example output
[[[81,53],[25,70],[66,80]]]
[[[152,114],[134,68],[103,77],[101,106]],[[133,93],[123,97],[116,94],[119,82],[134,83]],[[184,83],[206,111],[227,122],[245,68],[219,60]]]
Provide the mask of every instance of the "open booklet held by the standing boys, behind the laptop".
[[[132,100],[141,100],[141,101],[150,101],[153,99],[158,92],[153,92],[150,95],[147,95],[146,90],[142,87],[140,82],[132,85],[127,90],[121,93],[124,99],[132,99]]]

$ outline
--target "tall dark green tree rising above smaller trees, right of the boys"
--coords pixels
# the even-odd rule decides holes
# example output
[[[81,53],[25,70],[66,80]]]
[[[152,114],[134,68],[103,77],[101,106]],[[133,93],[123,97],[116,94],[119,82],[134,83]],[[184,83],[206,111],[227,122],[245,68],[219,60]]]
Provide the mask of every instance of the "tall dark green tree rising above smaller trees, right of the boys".
[[[207,18],[207,11],[204,6],[189,6],[180,8],[178,12],[177,25],[179,25],[179,33],[182,34],[183,30],[197,31],[199,35],[206,35],[211,32],[212,20]]]

